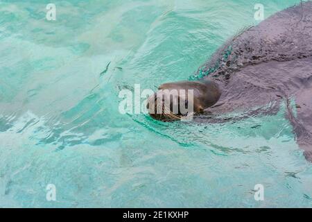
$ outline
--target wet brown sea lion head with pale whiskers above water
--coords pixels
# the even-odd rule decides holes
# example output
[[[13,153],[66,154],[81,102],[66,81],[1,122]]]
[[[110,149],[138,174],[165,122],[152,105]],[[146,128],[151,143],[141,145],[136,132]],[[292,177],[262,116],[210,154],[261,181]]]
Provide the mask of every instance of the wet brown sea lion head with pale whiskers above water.
[[[154,119],[172,121],[202,112],[216,104],[221,91],[210,80],[164,83],[150,96],[146,108]]]

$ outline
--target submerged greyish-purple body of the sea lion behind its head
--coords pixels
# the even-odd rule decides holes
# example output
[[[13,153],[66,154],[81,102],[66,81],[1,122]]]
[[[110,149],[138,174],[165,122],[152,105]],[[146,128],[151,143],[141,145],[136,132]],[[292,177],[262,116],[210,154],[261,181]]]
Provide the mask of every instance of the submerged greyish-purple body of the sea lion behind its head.
[[[221,54],[231,50],[227,59]],[[221,58],[221,59],[220,59]],[[248,28],[223,46],[200,70],[218,67],[205,79],[223,86],[212,113],[261,108],[274,114],[288,105],[297,144],[312,162],[312,3],[301,3]],[[295,109],[291,108],[295,101]],[[205,118],[204,118],[205,119]]]

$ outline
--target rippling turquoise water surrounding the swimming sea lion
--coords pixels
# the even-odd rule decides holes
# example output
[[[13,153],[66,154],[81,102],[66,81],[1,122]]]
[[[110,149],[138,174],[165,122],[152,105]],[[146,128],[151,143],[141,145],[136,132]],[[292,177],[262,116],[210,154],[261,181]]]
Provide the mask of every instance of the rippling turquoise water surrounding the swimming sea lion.
[[[209,125],[119,112],[121,89],[186,80],[257,24],[255,3],[297,2],[55,0],[47,21],[51,1],[1,0],[0,207],[312,207],[283,105]]]

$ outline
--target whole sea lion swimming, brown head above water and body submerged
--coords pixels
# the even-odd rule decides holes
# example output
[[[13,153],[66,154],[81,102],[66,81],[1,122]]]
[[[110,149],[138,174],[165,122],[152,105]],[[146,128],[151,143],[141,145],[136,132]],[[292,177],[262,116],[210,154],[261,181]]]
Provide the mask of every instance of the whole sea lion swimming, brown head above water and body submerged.
[[[311,1],[245,29],[214,53],[195,77],[201,79],[161,85],[158,91],[165,96],[156,93],[148,99],[150,116],[162,121],[180,119],[183,114],[173,108],[185,103],[193,105],[194,121],[211,123],[216,114],[230,112],[275,114],[284,102],[297,144],[312,162]],[[180,93],[169,95],[173,89],[192,89],[191,103]],[[166,105],[164,97],[172,100]]]

